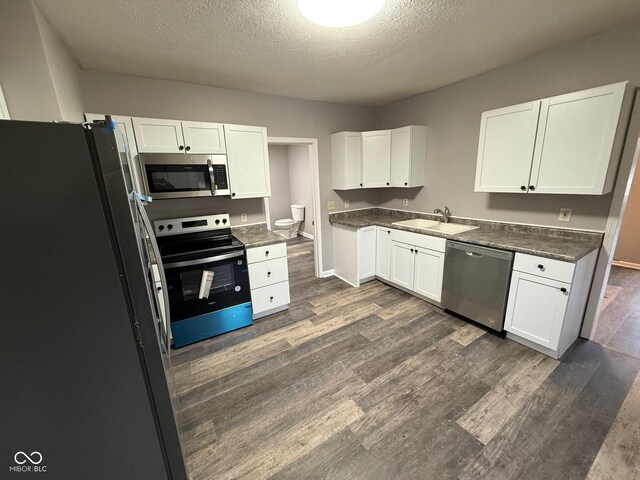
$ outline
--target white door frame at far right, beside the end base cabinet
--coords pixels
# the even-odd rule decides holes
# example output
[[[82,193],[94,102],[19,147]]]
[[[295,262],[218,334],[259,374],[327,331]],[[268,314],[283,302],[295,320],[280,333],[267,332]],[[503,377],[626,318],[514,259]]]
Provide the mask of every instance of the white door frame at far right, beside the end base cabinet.
[[[640,90],[635,89],[633,94],[633,106],[631,110],[631,118],[627,126],[626,138],[622,149],[622,157],[618,168],[618,176],[613,189],[611,198],[611,206],[609,208],[609,216],[605,227],[604,240],[598,261],[596,263],[596,271],[591,284],[591,292],[589,293],[589,301],[582,323],[580,336],[593,340],[598,320],[600,318],[600,310],[602,301],[604,300],[605,290],[609,282],[609,273],[611,272],[611,264],[613,263],[613,254],[618,244],[618,235],[622,228],[622,219],[627,207],[627,200],[633,183],[635,169],[638,165],[640,157]]]

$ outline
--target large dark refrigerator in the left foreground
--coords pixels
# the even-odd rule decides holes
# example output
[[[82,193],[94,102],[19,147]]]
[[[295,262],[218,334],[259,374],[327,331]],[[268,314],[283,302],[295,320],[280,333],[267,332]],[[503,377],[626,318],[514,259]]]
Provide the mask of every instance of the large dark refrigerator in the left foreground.
[[[187,478],[119,150],[109,123],[0,120],[1,478]]]

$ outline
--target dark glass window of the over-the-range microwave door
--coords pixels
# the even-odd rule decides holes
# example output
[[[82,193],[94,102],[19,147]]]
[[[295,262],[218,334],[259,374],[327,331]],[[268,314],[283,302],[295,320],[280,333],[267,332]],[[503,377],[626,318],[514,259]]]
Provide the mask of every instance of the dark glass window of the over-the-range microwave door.
[[[149,193],[211,190],[207,165],[145,165]]]

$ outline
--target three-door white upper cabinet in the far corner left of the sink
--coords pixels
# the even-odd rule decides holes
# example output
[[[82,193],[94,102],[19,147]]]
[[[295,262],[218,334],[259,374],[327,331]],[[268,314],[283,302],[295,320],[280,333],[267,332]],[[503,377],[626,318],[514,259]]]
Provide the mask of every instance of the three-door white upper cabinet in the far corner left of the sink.
[[[332,186],[412,188],[425,182],[427,127],[339,132],[331,135]]]

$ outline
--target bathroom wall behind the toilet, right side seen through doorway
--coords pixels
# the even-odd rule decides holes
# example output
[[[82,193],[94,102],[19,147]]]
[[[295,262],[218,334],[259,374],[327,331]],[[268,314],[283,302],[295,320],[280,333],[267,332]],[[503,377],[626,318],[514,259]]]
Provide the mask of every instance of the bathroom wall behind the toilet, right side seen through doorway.
[[[300,230],[315,235],[313,225],[313,189],[312,176],[309,163],[308,145],[289,145],[289,191],[291,192],[291,203],[304,205],[304,222],[300,225]],[[289,212],[291,214],[291,212]],[[290,218],[290,217],[288,217]]]

